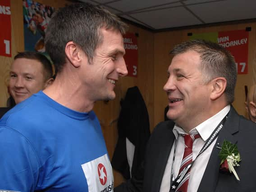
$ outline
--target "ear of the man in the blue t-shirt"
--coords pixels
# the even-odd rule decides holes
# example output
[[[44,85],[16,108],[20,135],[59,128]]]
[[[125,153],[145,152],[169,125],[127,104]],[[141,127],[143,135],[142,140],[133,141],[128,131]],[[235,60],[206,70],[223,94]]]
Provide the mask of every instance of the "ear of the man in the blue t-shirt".
[[[65,47],[65,54],[69,62],[74,66],[74,67],[80,67],[81,65],[81,59],[82,59],[82,54],[81,54],[82,49],[75,44],[73,41],[69,41],[66,44]]]

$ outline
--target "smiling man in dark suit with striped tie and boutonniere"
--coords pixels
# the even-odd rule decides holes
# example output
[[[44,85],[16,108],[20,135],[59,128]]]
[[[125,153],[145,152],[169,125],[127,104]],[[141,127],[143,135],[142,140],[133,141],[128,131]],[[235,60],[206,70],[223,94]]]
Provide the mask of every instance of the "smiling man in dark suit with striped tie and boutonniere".
[[[141,171],[114,191],[255,191],[256,125],[231,105],[237,79],[233,56],[204,40],[184,42],[171,54],[164,90],[169,100],[167,116],[175,123],[165,121],[155,127]],[[238,147],[242,159],[240,166],[231,166],[237,163],[232,153],[238,152],[227,152],[232,173],[220,170],[224,140]]]

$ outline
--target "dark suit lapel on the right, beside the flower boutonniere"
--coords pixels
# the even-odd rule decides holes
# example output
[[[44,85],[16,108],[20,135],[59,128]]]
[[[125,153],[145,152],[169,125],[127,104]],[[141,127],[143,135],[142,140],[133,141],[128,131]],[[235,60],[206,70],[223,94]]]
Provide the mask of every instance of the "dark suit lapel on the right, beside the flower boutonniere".
[[[198,192],[212,192],[215,190],[219,178],[220,165],[220,149],[217,147],[221,147],[224,139],[231,143],[237,143],[237,138],[234,134],[238,132],[239,121],[240,119],[237,112],[234,110],[233,106],[231,106],[228,119],[225,122],[224,127],[220,130],[215,146],[211,152]]]

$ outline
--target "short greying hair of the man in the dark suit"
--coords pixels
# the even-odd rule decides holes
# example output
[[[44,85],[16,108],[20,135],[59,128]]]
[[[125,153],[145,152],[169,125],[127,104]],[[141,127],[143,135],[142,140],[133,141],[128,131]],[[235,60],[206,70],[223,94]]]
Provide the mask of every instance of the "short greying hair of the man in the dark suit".
[[[206,40],[189,40],[176,45],[170,54],[182,54],[189,50],[200,54],[199,67],[203,74],[204,83],[208,83],[216,77],[224,77],[227,80],[225,94],[227,102],[233,103],[235,86],[237,81],[237,67],[232,54],[223,46]]]

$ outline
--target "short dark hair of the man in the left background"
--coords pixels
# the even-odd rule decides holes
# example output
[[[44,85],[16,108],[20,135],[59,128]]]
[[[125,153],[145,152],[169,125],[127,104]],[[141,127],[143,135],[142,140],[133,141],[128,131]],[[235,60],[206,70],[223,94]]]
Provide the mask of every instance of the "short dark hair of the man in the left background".
[[[45,81],[53,76],[52,64],[50,63],[49,59],[46,58],[45,55],[34,51],[24,51],[18,52],[18,54],[15,55],[14,60],[18,58],[27,58],[39,61],[43,66],[43,75]]]

